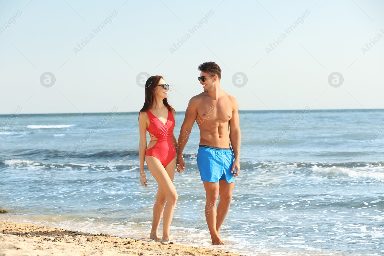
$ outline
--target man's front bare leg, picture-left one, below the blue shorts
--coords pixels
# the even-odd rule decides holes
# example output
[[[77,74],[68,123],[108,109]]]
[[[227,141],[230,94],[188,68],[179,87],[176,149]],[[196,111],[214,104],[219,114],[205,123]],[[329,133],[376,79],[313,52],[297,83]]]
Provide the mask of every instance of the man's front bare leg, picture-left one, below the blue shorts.
[[[209,233],[211,234],[212,244],[225,244],[221,241],[216,230],[216,203],[218,198],[219,183],[203,181],[205,192],[207,193],[207,203],[205,203],[205,218],[207,220]]]

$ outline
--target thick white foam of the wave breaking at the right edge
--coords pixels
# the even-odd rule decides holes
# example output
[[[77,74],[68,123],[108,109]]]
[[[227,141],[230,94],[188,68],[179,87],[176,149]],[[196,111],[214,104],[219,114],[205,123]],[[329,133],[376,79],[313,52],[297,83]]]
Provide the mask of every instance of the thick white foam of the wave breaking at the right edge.
[[[334,168],[338,168],[339,170],[334,170]],[[349,178],[358,178],[362,180],[376,180],[379,182],[384,182],[384,173],[382,172],[367,172],[362,170],[351,170],[344,167],[318,167],[317,165],[314,165],[312,167],[312,171],[319,175],[335,175],[335,172],[338,172],[337,175],[339,177],[349,177]],[[338,180],[341,180],[341,178],[338,178]]]

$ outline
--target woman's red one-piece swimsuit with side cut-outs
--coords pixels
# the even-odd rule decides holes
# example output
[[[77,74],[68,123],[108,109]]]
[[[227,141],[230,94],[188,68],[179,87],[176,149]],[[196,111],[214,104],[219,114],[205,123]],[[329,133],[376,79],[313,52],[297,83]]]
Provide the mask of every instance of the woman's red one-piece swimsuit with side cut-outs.
[[[151,111],[147,111],[149,116],[149,127],[147,131],[154,135],[157,140],[156,144],[147,149],[146,156],[151,155],[160,160],[161,164],[166,167],[170,161],[176,157],[175,145],[172,140],[172,133],[175,127],[175,118],[172,112],[168,111],[167,122],[164,124]]]

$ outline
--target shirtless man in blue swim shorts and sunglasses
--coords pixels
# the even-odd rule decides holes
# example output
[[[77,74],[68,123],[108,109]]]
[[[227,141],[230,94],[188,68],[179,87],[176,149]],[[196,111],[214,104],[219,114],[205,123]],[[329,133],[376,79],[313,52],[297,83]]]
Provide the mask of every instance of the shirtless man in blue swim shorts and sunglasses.
[[[192,97],[188,103],[180,129],[176,163],[178,172],[185,170],[182,153],[196,121],[200,129],[197,166],[207,193],[205,218],[212,244],[220,245],[224,244],[219,235],[220,227],[232,200],[234,177],[240,171],[238,104],[234,97],[220,88],[221,69],[216,63],[205,62],[198,69],[204,92]],[[220,202],[216,210],[218,196]]]

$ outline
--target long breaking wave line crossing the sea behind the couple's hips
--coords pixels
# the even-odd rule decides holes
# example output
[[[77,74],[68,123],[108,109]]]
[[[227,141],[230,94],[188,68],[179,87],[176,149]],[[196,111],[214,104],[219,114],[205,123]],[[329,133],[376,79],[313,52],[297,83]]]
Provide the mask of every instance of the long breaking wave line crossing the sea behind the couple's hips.
[[[136,151],[100,151],[100,152],[67,152],[58,150],[20,150],[12,152],[12,157],[0,161],[5,167],[40,166],[43,168],[89,170],[95,172],[129,172],[138,168],[139,159]],[[31,159],[23,160],[27,154]],[[183,154],[184,155],[184,154]],[[16,156],[16,157],[15,157]],[[195,154],[185,154],[187,168],[196,169]],[[65,163],[63,163],[65,160]],[[252,175],[317,175],[331,178],[336,182],[342,182],[345,178],[354,180],[370,180],[384,182],[384,162],[374,163],[338,163],[319,164],[316,162],[240,162],[241,169]],[[20,168],[18,167],[18,168]]]

